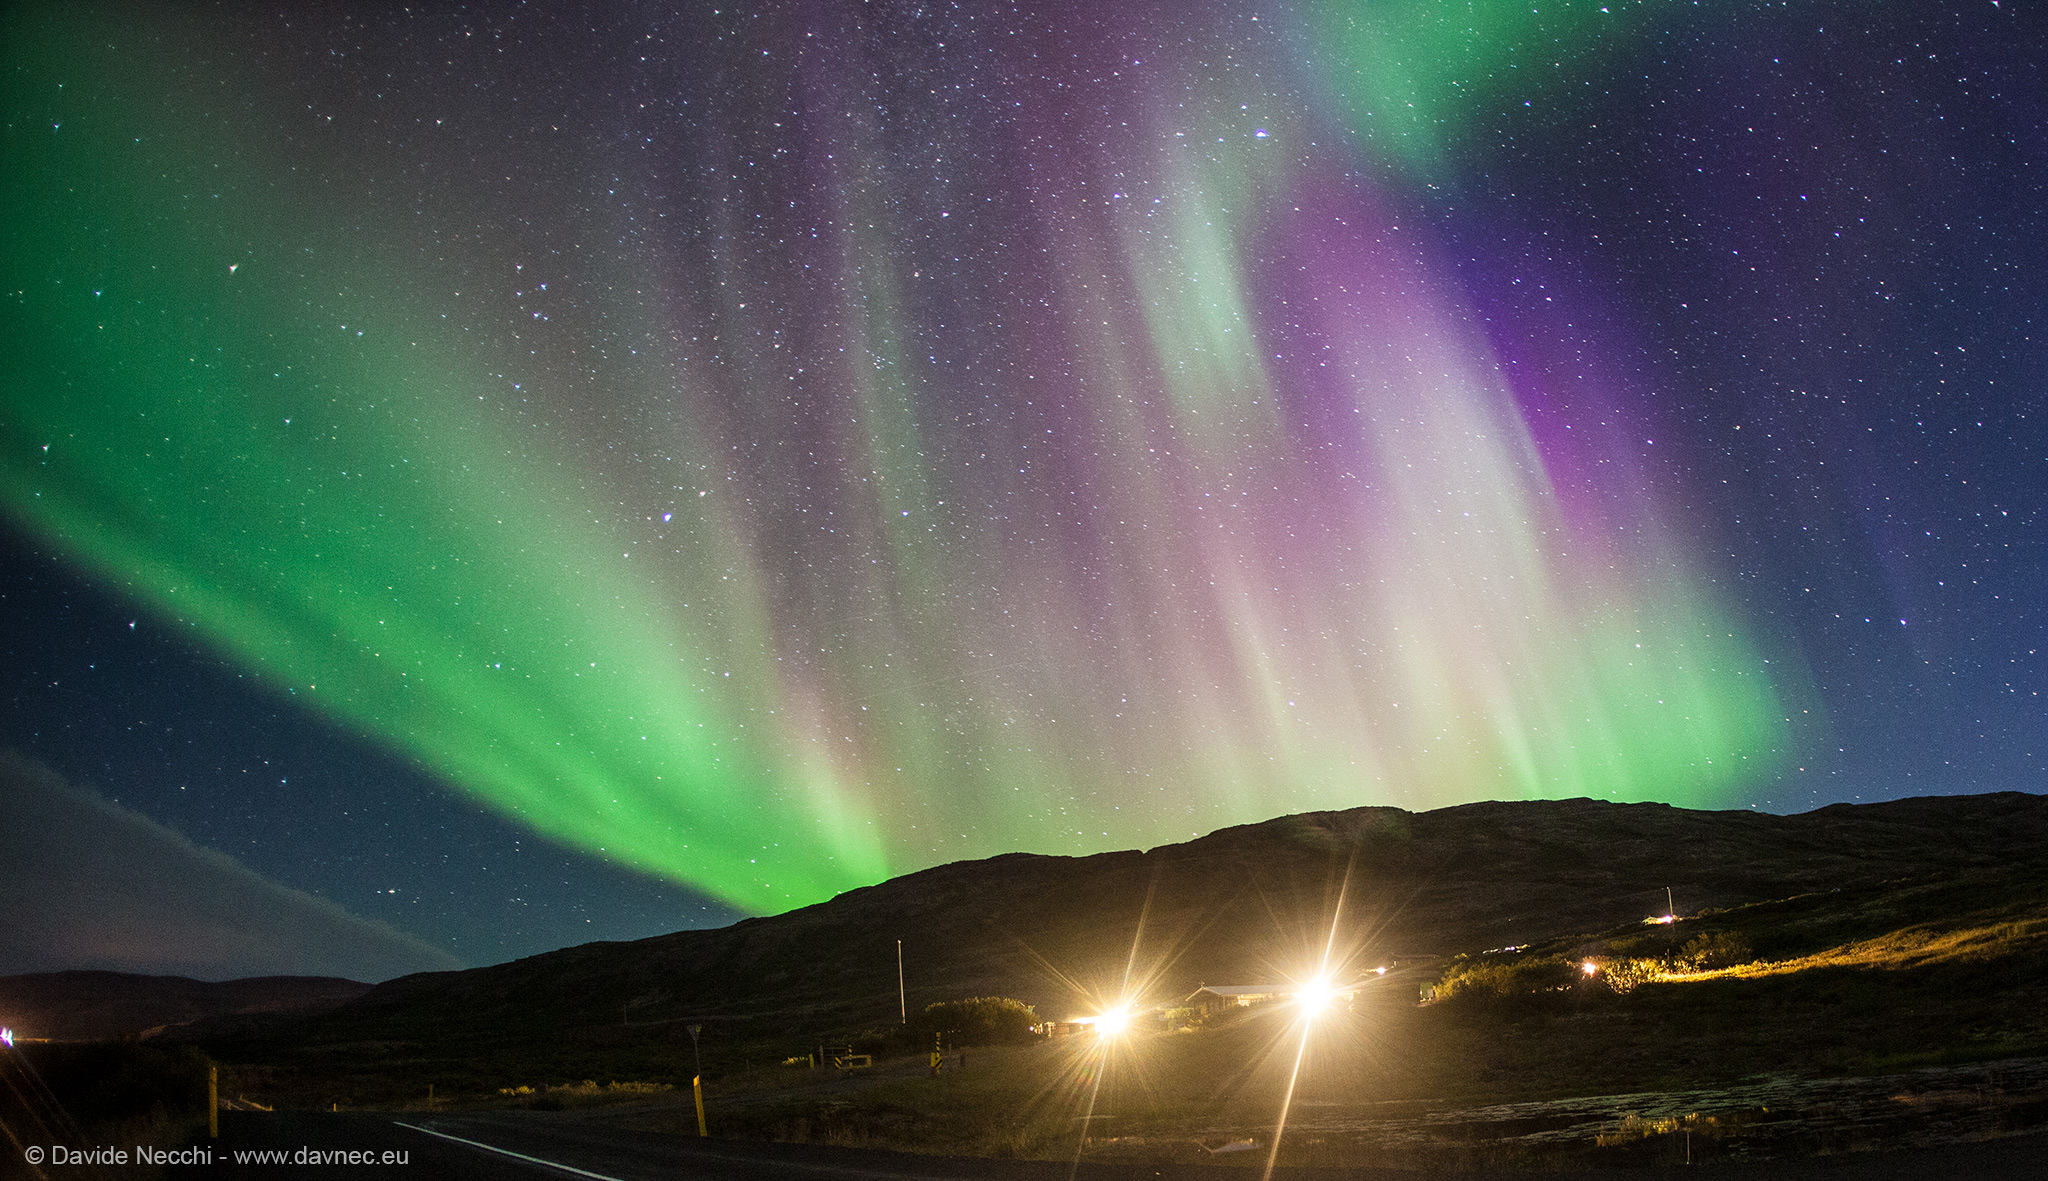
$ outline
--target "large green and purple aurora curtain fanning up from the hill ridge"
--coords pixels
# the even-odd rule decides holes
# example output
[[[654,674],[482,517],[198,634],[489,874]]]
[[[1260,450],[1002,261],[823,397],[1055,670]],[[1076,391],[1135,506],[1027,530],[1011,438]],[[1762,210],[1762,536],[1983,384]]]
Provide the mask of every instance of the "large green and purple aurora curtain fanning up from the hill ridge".
[[[590,129],[424,76],[457,129],[336,127],[172,18],[14,20],[6,512],[555,839],[778,911],[1303,808],[1733,802],[1784,743],[1655,493],[1552,485],[1427,248],[1249,84],[1163,63],[969,192],[881,115],[739,178],[752,65],[651,246]]]

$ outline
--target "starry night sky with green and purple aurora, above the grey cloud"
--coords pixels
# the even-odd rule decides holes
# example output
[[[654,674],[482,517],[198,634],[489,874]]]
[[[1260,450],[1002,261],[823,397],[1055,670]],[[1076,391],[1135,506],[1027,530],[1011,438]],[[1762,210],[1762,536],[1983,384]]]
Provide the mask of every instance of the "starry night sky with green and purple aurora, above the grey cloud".
[[[6,20],[0,747],[365,972],[2048,790],[2025,4]]]

